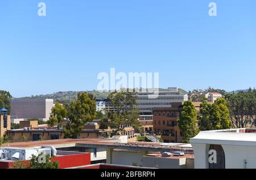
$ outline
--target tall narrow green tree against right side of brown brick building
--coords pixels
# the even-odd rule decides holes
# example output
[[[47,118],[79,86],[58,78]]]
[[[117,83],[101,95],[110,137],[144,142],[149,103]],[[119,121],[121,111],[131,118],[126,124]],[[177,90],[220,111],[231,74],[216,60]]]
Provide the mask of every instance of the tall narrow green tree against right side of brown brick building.
[[[185,101],[180,119],[177,121],[183,143],[189,143],[190,139],[199,133],[197,127],[197,112],[191,101]]]

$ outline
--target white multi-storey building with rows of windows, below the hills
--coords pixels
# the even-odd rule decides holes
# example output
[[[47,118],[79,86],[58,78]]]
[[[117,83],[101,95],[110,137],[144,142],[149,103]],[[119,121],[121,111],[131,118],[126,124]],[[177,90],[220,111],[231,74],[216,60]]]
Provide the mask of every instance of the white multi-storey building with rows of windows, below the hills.
[[[168,91],[160,91],[157,97],[154,92],[139,92],[136,108],[140,111],[140,119],[152,120],[154,108],[170,108],[173,102],[184,102],[188,95],[182,95],[177,88],[168,88]]]

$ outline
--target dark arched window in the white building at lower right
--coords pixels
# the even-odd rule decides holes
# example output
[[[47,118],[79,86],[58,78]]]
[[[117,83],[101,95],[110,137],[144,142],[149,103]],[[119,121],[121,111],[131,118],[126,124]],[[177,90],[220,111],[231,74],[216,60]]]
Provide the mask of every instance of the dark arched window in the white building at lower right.
[[[217,163],[209,163],[209,169],[225,169],[225,152],[221,145],[210,145],[210,150],[217,152]],[[209,155],[210,157],[210,155]]]

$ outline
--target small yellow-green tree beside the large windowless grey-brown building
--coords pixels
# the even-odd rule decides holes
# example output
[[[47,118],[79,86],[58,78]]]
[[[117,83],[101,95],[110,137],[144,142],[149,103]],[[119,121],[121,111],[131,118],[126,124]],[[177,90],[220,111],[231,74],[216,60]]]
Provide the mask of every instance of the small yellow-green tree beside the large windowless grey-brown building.
[[[57,128],[59,129],[62,126],[62,120],[67,118],[67,113],[65,106],[56,102],[49,117],[49,125],[52,127],[57,123]]]

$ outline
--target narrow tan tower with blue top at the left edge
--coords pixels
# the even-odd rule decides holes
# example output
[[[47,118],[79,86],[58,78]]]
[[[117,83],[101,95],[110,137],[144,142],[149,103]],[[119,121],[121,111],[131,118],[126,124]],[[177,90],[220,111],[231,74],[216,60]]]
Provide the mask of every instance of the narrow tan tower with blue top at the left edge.
[[[11,117],[9,110],[0,109],[0,138],[5,135],[5,132],[11,129]]]

